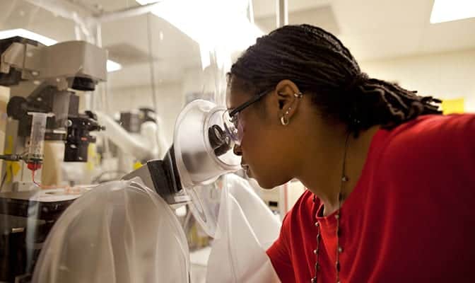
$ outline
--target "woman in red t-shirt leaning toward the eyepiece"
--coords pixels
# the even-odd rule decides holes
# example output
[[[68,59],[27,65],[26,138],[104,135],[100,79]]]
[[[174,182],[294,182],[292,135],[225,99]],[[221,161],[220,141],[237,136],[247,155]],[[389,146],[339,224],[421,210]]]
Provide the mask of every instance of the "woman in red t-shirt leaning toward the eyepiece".
[[[242,167],[307,187],[267,254],[282,282],[475,282],[475,116],[370,79],[334,35],[288,25],[229,73]]]

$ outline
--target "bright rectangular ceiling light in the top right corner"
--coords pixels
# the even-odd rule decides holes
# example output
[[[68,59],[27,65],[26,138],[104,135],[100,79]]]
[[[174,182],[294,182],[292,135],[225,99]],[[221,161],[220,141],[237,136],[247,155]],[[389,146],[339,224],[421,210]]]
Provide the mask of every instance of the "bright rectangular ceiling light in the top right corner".
[[[474,0],[434,0],[430,23],[444,23],[475,18]]]

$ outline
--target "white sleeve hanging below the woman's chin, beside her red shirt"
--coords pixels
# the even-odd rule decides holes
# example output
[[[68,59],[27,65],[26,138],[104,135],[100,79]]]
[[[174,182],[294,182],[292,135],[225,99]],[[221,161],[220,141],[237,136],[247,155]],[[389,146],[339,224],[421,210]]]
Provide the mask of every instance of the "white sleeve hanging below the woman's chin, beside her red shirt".
[[[246,180],[233,174],[227,178],[206,282],[280,282],[266,249],[278,238],[281,221]]]

